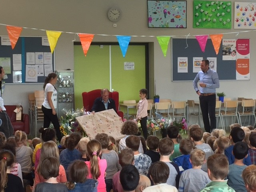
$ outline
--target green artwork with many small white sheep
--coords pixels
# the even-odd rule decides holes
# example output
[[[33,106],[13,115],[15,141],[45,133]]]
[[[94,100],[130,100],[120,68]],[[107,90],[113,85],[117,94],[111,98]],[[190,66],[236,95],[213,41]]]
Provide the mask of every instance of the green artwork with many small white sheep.
[[[231,29],[231,1],[194,0],[193,28]]]

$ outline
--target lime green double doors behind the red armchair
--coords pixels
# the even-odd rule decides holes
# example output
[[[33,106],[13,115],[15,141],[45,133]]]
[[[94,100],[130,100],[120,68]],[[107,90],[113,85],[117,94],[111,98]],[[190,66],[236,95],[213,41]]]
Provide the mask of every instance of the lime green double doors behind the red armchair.
[[[82,108],[82,92],[110,89],[110,46],[91,45],[87,56],[82,46],[74,45],[75,108]],[[134,70],[124,70],[124,62],[134,62]],[[112,88],[119,92],[119,102],[136,100],[139,90],[146,88],[144,45],[129,45],[125,58],[119,45],[111,45]],[[132,111],[131,111],[132,112]]]

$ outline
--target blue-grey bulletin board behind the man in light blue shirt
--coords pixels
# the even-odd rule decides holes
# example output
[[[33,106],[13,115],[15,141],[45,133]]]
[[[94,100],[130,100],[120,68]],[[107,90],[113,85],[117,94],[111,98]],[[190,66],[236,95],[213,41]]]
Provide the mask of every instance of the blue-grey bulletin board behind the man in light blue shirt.
[[[186,48],[187,47],[187,48]],[[202,57],[204,59],[216,58],[216,71],[219,80],[238,80],[236,71],[236,60],[223,60],[222,43],[216,55],[212,40],[208,38],[205,52],[202,52],[196,38],[172,38],[172,81],[192,81],[198,72],[193,72],[193,58]],[[187,72],[178,72],[178,58],[187,58]],[[249,66],[250,68],[250,66]],[[250,76],[250,74],[249,74]],[[240,79],[239,79],[240,80]],[[250,79],[244,79],[250,80]]]

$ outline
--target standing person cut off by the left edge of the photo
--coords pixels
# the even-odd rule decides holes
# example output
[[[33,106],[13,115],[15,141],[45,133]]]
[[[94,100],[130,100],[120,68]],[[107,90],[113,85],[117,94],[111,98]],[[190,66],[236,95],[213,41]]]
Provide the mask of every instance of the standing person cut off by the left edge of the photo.
[[[4,99],[2,98],[2,80],[4,79],[4,68],[0,66],[0,119],[2,120],[2,125],[0,126],[0,131],[4,132],[6,138],[9,138],[13,134],[13,127],[10,118],[4,107]]]

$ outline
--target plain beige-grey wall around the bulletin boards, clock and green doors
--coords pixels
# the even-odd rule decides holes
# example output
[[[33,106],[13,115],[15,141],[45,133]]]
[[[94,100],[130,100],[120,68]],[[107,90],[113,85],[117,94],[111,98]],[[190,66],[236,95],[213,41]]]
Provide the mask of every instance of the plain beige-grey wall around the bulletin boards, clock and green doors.
[[[232,0],[232,11],[234,2]],[[228,29],[194,29],[193,1],[187,1],[187,28],[148,28],[146,0],[0,0],[0,18],[2,24],[56,30],[75,33],[135,35],[135,36],[186,36],[200,34],[218,34],[236,32]],[[112,6],[122,10],[122,18],[113,27],[107,18],[108,9]],[[234,15],[234,14],[232,14]],[[233,16],[232,16],[233,23]],[[233,26],[233,25],[232,25]],[[0,26],[0,36],[7,35],[5,26]],[[23,29],[22,36],[46,36],[44,31]],[[62,33],[55,48],[56,70],[74,69],[74,34]],[[250,38],[251,80],[221,81],[217,91],[224,91],[231,98],[256,98],[254,89],[256,65],[255,32],[224,34],[224,38]],[[76,41],[79,38],[76,36]],[[93,42],[117,42],[115,36],[94,36]],[[132,37],[131,42],[150,42],[150,77],[151,90],[161,98],[172,100],[198,100],[192,88],[192,82],[171,81],[171,45],[166,57],[154,37]],[[191,45],[190,45],[191,46]],[[154,87],[155,85],[155,87]],[[24,112],[28,109],[28,92],[42,89],[42,84],[7,84],[4,90],[5,104],[22,103]]]

